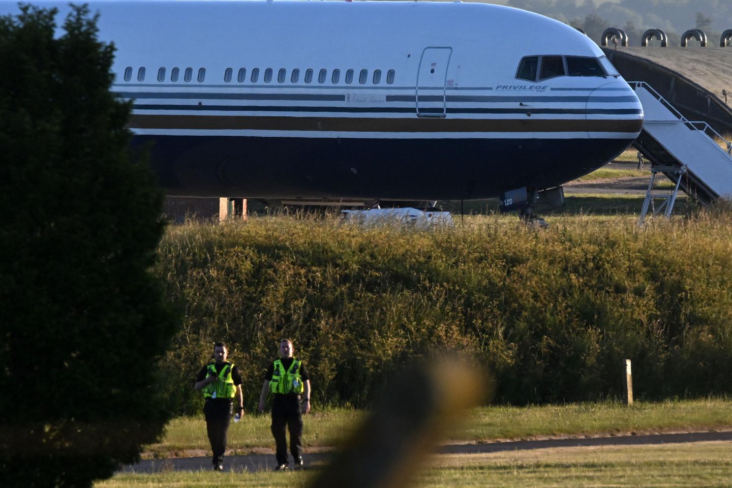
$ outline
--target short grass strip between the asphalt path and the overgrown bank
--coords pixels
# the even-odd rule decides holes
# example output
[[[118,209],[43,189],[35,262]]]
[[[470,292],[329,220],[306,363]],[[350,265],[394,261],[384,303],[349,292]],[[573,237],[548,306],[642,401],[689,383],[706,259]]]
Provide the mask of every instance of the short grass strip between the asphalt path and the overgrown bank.
[[[333,446],[363,413],[329,409],[305,421],[305,444]],[[630,432],[706,430],[732,427],[732,401],[703,399],[681,402],[580,403],[530,407],[476,408],[448,442],[487,442],[498,439],[546,438],[563,435],[615,435]],[[185,451],[207,450],[203,418],[176,418],[168,425],[163,442],[149,446],[147,456],[168,457]],[[247,415],[229,429],[228,447],[240,454],[253,448],[271,448],[269,416]]]

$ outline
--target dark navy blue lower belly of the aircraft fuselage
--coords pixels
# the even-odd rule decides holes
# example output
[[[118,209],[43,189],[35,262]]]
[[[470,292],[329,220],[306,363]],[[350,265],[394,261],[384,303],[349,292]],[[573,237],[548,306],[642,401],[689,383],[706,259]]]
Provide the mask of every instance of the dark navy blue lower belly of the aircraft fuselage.
[[[367,139],[138,135],[168,195],[460,200],[555,187],[624,139]]]

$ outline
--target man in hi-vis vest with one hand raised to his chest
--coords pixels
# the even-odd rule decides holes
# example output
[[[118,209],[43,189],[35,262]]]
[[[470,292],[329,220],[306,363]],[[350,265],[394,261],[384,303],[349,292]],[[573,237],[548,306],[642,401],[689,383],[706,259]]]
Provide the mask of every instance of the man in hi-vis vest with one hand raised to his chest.
[[[228,349],[223,342],[214,344],[214,361],[206,364],[195,378],[195,389],[203,390],[203,415],[206,416],[206,432],[214,452],[214,471],[222,471],[226,451],[226,432],[231,421],[231,400],[236,413],[242,414],[242,376],[239,369],[226,361]]]

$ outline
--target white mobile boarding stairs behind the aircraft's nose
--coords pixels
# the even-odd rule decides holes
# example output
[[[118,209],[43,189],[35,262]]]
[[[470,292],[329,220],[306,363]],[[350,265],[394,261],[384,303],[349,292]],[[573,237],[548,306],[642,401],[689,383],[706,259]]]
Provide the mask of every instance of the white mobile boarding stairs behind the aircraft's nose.
[[[706,122],[686,119],[648,83],[634,81],[630,86],[644,114],[643,129],[633,147],[651,162],[652,172],[639,223],[643,224],[649,207],[654,215],[664,212],[670,217],[679,189],[705,206],[717,198],[732,198],[732,143]],[[668,176],[676,187],[655,208],[654,200],[660,197],[653,189],[657,173]]]

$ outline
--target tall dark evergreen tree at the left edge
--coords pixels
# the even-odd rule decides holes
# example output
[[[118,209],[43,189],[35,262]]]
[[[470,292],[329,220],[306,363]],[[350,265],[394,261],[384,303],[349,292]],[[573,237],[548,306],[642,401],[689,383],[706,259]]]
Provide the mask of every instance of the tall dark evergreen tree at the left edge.
[[[0,484],[88,487],[168,419],[176,318],[149,272],[164,224],[97,16],[0,18]]]

